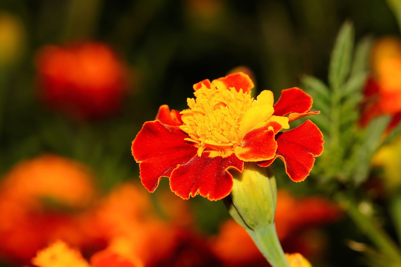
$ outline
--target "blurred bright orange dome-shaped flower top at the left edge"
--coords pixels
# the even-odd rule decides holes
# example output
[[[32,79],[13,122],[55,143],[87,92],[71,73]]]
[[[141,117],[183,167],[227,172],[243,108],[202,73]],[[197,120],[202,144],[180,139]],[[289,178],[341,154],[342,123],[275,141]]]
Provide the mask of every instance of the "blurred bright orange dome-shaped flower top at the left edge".
[[[6,174],[0,190],[36,207],[51,200],[66,208],[83,208],[95,195],[89,168],[51,154],[18,163]]]

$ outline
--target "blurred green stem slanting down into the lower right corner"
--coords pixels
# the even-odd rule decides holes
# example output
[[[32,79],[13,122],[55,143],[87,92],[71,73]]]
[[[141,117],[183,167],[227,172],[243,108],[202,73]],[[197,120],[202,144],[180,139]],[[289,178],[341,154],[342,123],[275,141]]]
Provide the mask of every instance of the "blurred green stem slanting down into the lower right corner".
[[[373,217],[360,212],[352,194],[347,197],[339,196],[338,200],[358,228],[369,237],[377,248],[394,263],[401,265],[401,251],[397,245]]]

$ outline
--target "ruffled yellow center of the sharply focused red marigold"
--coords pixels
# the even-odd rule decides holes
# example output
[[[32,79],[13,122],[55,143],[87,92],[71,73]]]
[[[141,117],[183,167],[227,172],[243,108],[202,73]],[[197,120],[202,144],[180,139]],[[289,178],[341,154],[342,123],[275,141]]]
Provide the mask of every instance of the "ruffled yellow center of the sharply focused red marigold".
[[[204,150],[210,156],[229,156],[234,148],[241,146],[243,134],[240,125],[244,113],[251,108],[253,98],[249,93],[235,88],[218,89],[205,85],[195,91],[196,99],[188,98],[189,109],[182,111],[180,128],[190,138],[187,141],[199,145],[198,156]]]

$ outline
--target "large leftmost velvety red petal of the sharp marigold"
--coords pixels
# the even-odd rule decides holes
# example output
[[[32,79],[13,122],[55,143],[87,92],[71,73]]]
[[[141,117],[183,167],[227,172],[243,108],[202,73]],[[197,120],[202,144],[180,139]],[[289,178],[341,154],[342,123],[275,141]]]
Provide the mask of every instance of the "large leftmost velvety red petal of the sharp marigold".
[[[139,162],[142,184],[153,192],[163,176],[169,177],[179,164],[196,155],[197,148],[178,126],[147,121],[132,141],[132,156]]]

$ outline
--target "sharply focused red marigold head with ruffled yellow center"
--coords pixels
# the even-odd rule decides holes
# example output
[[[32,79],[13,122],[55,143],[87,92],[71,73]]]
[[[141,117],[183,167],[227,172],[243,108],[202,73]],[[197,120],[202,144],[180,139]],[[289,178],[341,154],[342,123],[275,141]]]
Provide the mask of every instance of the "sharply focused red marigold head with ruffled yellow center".
[[[162,105],[156,120],[146,122],[132,142],[132,155],[140,164],[142,184],[154,192],[163,176],[181,198],[200,194],[219,200],[230,194],[229,169],[242,172],[244,162],[269,166],[281,158],[290,178],[300,182],[309,175],[314,157],[323,152],[323,136],[307,120],[289,131],[290,121],[318,114],[310,111],[312,98],[299,88],[250,95],[248,75],[234,73],[193,86],[195,99],[181,112]]]

